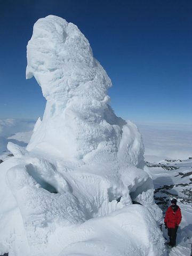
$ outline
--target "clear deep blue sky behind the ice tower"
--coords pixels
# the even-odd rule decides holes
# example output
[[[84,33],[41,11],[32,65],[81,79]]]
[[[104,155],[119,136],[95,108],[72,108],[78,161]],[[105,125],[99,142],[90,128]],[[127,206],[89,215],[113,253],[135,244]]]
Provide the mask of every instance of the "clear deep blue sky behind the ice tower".
[[[106,69],[116,115],[137,123],[192,123],[191,0],[0,2],[0,118],[42,116],[45,99],[25,79],[26,45],[38,18],[75,23]]]

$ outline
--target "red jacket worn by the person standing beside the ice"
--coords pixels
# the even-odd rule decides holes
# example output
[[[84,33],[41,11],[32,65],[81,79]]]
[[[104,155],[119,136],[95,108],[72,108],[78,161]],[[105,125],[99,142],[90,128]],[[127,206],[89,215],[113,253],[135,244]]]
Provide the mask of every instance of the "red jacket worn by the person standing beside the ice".
[[[176,211],[173,211],[171,206],[167,209],[164,221],[167,228],[175,228],[175,226],[179,226],[179,223],[181,222],[181,209],[178,205]]]

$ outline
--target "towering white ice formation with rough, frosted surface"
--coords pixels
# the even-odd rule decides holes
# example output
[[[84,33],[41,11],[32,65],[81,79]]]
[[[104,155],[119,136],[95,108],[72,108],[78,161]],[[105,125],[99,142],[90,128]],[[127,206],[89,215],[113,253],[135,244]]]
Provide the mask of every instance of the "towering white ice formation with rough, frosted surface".
[[[27,148],[9,142],[0,166],[0,252],[164,255],[141,134],[108,105],[111,81],[77,26],[39,19],[26,76],[47,103]]]

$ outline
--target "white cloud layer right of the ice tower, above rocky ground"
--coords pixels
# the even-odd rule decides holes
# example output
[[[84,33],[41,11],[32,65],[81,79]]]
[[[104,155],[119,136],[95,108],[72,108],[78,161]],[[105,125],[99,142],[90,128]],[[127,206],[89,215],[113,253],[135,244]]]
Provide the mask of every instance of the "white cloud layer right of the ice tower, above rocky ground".
[[[165,158],[187,159],[192,156],[192,132],[189,126],[138,125],[138,127],[143,137],[147,161],[156,162]]]

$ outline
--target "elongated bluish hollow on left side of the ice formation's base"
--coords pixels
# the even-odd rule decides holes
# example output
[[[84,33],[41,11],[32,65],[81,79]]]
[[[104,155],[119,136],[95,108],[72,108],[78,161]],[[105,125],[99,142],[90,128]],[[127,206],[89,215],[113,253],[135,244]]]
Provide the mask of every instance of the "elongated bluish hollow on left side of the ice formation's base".
[[[48,183],[47,181],[45,181],[40,174],[37,172],[36,168],[34,167],[33,164],[28,164],[26,166],[26,170],[28,172],[29,175],[31,175],[31,177],[34,178],[34,180],[44,189],[46,189],[47,191],[49,191],[50,193],[54,193],[57,194],[58,191],[57,189],[55,189],[50,183]]]

